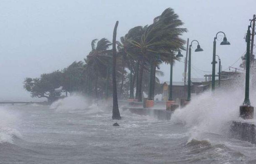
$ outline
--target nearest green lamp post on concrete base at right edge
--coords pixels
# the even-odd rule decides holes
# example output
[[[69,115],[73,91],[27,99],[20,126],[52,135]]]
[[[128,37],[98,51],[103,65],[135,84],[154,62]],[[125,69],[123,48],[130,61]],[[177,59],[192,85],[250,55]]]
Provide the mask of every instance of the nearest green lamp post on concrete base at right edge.
[[[253,20],[256,20],[254,18]],[[253,21],[251,20],[251,22]],[[243,119],[253,119],[254,109],[251,106],[249,99],[249,80],[250,80],[250,44],[251,44],[251,23],[248,25],[248,30],[246,34],[246,88],[245,88],[245,98],[243,105],[240,106],[240,117]]]

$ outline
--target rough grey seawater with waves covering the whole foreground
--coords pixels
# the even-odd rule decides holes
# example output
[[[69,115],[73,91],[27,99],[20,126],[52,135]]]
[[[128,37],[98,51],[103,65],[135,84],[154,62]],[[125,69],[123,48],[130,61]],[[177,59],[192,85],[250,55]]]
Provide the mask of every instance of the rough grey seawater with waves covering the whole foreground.
[[[82,97],[52,106],[1,106],[0,163],[256,164],[255,145],[227,137],[240,99],[223,108],[199,105],[222,103],[210,96],[175,111],[170,121],[121,110],[119,127],[112,126],[111,108]]]

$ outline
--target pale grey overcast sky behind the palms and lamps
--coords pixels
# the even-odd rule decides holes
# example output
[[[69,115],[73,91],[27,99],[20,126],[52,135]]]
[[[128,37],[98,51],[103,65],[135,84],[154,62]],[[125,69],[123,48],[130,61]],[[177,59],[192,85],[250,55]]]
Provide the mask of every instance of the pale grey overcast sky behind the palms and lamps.
[[[151,24],[169,7],[188,29],[183,38],[199,40],[204,49],[192,52],[196,67],[192,78],[203,78],[208,73],[203,71],[211,70],[213,38],[219,30],[231,43],[220,46],[217,42],[225,70],[246,50],[243,37],[255,6],[255,0],[0,0],[0,100],[29,99],[24,78],[83,60],[92,39],[112,40],[116,20],[120,38],[134,26]],[[176,63],[173,69],[174,81],[181,81],[184,63]],[[161,81],[168,81],[169,66],[163,65],[161,70],[165,72]]]

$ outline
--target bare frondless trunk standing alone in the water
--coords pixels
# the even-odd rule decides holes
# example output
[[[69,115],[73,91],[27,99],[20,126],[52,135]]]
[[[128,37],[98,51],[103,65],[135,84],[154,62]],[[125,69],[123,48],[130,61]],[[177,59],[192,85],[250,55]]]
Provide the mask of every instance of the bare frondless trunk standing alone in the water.
[[[112,110],[112,119],[120,120],[120,112],[118,109],[118,93],[116,87],[116,75],[115,75],[115,67],[116,67],[116,30],[118,28],[118,21],[115,23],[115,28],[113,31],[113,42],[112,42],[112,50],[113,50],[113,68],[112,68],[112,83],[113,83],[113,110]]]

